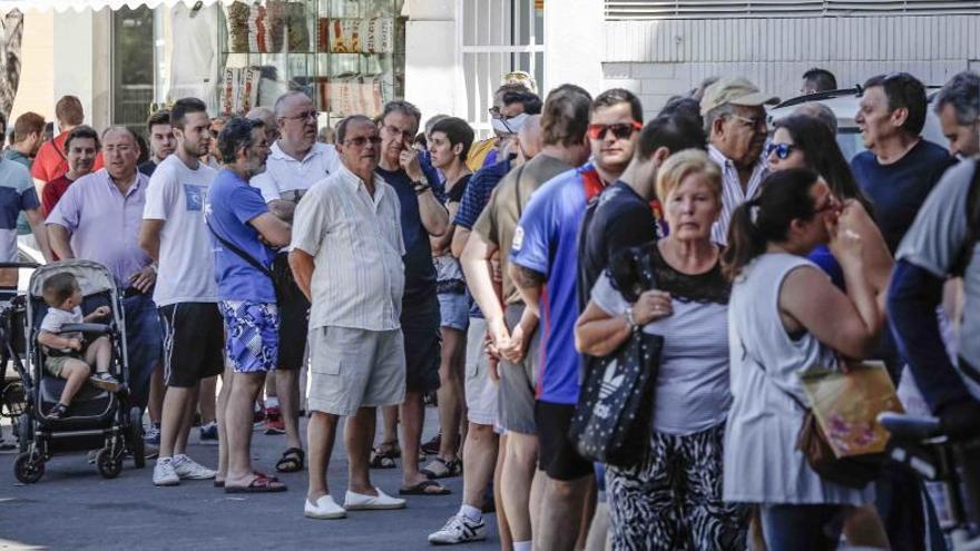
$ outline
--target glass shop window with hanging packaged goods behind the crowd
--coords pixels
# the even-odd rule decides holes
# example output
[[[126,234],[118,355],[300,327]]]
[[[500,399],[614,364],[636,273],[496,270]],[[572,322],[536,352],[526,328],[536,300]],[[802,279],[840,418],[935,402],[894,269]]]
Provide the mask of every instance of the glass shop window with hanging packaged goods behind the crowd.
[[[242,114],[287,90],[331,119],[375,116],[404,82],[402,0],[266,0],[223,9],[218,107]]]

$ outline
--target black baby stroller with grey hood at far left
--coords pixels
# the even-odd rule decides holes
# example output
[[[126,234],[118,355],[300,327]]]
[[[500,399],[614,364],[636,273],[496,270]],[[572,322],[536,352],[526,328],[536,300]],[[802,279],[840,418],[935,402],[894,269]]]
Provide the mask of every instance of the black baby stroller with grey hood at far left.
[[[110,372],[121,383],[116,393],[86,384],[76,394],[67,415],[59,420],[47,417],[58,403],[65,381],[45,372],[45,353],[37,343],[41,319],[48,305],[41,297],[45,281],[69,272],[81,286],[85,299],[82,311],[87,314],[99,306],[111,311],[104,324],[71,324],[62,333],[81,332],[86,340],[107,336],[112,347]],[[17,480],[29,484],[45,474],[45,462],[52,455],[66,452],[98,450],[96,466],[106,479],[118,476],[122,459],[133,455],[137,469],[146,465],[143,442],[143,421],[139,407],[129,404],[129,365],[126,354],[125,315],[122,297],[112,274],[105,266],[89,260],[61,260],[39,267],[30,278],[26,301],[24,337],[27,364],[14,367],[23,381],[27,407],[18,420],[20,454],[13,464]]]

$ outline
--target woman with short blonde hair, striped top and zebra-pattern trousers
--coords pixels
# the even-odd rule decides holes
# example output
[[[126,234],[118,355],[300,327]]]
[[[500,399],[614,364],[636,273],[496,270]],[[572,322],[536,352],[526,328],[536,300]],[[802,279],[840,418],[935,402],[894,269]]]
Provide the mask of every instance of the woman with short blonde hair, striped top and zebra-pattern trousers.
[[[651,434],[644,459],[608,465],[606,493],[614,549],[745,549],[743,510],[722,500],[722,442],[728,391],[728,293],[712,227],[722,213],[722,175],[687,149],[658,170],[670,228],[641,247],[656,288],[636,296],[621,257],[592,287],[576,324],[579,352],[614,353],[633,333],[664,336]]]

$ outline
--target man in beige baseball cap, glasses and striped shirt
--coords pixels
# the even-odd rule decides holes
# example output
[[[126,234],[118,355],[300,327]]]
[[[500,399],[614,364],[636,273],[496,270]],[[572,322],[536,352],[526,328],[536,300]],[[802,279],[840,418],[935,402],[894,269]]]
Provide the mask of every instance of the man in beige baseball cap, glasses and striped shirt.
[[[722,215],[712,228],[712,240],[728,242],[728,220],[738,205],[755,197],[766,176],[766,105],[776,97],[763,94],[743,77],[721,79],[700,100],[708,156],[722,167]]]

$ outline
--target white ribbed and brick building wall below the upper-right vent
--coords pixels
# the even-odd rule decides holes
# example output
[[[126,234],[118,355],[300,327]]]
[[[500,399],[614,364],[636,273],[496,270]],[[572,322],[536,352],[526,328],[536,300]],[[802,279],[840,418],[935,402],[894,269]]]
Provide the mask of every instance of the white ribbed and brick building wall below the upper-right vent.
[[[709,76],[742,75],[790,98],[811,67],[842,87],[903,70],[941,86],[977,68],[980,16],[608,21],[602,86],[640,95],[648,115]]]

